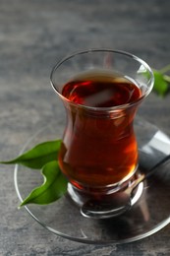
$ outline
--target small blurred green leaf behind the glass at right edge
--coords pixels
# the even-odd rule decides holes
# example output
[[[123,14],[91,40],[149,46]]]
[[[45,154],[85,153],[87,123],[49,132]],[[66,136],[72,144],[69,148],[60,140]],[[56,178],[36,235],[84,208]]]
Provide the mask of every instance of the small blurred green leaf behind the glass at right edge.
[[[159,95],[159,96],[165,96],[168,91],[168,82],[165,81],[164,75],[161,74],[159,71],[154,70],[154,87],[153,90]]]

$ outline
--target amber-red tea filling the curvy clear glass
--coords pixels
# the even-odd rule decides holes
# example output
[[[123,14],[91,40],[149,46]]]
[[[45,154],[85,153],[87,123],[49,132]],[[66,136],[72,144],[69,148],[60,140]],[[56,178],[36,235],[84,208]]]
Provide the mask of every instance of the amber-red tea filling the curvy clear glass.
[[[59,155],[71,184],[89,192],[131,177],[138,164],[137,107],[123,105],[142,96],[139,87],[125,77],[94,72],[68,82],[62,96],[73,102],[65,105],[68,120]]]

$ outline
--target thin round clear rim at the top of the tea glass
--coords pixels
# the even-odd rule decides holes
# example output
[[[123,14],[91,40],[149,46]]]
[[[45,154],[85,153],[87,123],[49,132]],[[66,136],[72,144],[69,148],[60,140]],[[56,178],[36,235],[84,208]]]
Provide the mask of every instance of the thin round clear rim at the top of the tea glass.
[[[68,61],[69,59],[79,56],[79,55],[83,55],[86,53],[93,53],[93,52],[110,52],[110,53],[116,53],[116,54],[120,54],[120,55],[124,55],[127,56],[131,59],[134,59],[135,61],[141,63],[145,69],[149,72],[150,75],[150,79],[147,81],[147,83],[145,84],[146,87],[148,88],[145,92],[144,95],[140,96],[137,100],[134,100],[132,102],[129,103],[125,103],[125,104],[120,104],[120,105],[116,105],[116,106],[109,106],[109,107],[100,107],[100,106],[89,106],[89,105],[85,105],[85,104],[79,104],[79,103],[75,103],[74,101],[68,99],[65,96],[62,96],[62,94],[56,89],[55,84],[53,83],[53,76],[55,71],[66,61]],[[145,98],[146,96],[148,96],[153,88],[154,85],[154,75],[153,72],[151,70],[151,68],[149,67],[149,65],[142,60],[142,58],[138,57],[135,54],[132,54],[128,51],[124,51],[124,50],[118,50],[118,49],[109,49],[109,48],[89,48],[89,49],[85,49],[85,50],[80,50],[80,51],[75,51],[71,54],[68,54],[67,56],[65,56],[64,58],[62,58],[61,60],[59,60],[54,67],[52,68],[52,71],[50,73],[50,84],[54,90],[54,92],[60,96],[64,101],[68,102],[69,104],[72,104],[74,106],[77,107],[83,107],[85,109],[88,110],[93,110],[93,111],[114,111],[114,110],[118,110],[118,109],[125,109],[125,108],[129,108],[131,106],[134,106],[138,103],[140,103],[142,101],[143,98]]]

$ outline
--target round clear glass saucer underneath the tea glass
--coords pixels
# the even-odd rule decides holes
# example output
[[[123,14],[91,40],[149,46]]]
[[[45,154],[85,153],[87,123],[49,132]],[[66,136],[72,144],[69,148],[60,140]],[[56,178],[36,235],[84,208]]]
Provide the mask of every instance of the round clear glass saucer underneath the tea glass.
[[[23,152],[38,143],[61,138],[61,124],[51,123],[34,134]],[[138,117],[135,130],[139,143],[140,171],[146,171],[157,161],[170,154],[170,139],[156,126]],[[133,207],[120,217],[94,220],[83,217],[80,209],[67,196],[45,205],[25,206],[28,214],[44,228],[59,236],[93,244],[121,244],[140,240],[170,223],[170,161],[155,170],[143,183],[142,195]],[[23,201],[30,191],[41,185],[38,170],[15,166],[15,187]]]

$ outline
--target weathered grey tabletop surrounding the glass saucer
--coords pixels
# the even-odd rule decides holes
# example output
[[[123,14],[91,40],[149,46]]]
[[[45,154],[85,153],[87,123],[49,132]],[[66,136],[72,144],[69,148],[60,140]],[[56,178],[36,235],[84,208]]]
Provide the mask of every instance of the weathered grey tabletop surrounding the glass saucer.
[[[62,117],[51,68],[70,52],[93,47],[132,52],[157,69],[167,65],[170,2],[0,0],[1,160],[16,157],[35,132]],[[169,100],[151,93],[140,110],[168,135]],[[83,244],[50,233],[18,210],[13,173],[13,165],[0,165],[0,255],[170,255],[170,225],[122,245]]]

